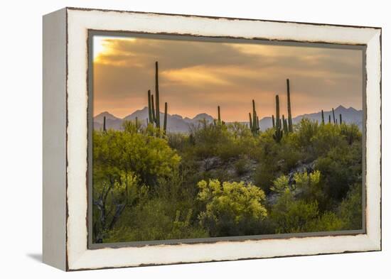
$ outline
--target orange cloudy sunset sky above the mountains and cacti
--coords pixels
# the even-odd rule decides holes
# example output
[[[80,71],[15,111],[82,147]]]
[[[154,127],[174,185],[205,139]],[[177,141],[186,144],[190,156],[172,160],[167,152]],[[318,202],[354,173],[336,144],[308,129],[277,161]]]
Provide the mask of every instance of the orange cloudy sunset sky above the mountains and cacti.
[[[159,61],[161,111],[193,118],[207,113],[247,121],[252,99],[259,119],[286,114],[286,78],[293,116],[332,107],[362,108],[361,50],[94,36],[94,115],[124,117],[147,106]],[[235,42],[235,41],[234,41]]]

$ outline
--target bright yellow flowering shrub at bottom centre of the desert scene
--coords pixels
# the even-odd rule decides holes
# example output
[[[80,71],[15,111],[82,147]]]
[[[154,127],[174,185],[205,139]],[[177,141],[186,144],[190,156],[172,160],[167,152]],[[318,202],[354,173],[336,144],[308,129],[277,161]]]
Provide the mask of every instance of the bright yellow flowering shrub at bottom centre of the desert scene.
[[[208,229],[210,236],[238,236],[259,234],[262,220],[267,217],[264,192],[243,182],[210,180],[198,182],[198,200],[205,203],[205,210],[198,219]]]

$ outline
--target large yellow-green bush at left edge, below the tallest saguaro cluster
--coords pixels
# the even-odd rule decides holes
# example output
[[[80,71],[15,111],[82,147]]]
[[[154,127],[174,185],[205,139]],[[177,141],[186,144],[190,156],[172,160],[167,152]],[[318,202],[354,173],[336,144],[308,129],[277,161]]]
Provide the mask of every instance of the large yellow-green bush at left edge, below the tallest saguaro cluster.
[[[141,184],[156,184],[159,177],[178,168],[181,157],[166,139],[144,133],[94,131],[94,180],[118,180],[122,171],[136,173]]]

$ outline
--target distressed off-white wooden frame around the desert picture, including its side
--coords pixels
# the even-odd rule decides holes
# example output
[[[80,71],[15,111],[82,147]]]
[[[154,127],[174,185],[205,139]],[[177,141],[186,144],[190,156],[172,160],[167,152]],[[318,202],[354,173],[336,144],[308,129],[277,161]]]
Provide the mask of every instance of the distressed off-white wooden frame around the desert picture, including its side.
[[[192,244],[88,245],[88,33],[365,46],[365,231]],[[381,249],[381,28],[65,8],[43,17],[43,261],[63,270]]]

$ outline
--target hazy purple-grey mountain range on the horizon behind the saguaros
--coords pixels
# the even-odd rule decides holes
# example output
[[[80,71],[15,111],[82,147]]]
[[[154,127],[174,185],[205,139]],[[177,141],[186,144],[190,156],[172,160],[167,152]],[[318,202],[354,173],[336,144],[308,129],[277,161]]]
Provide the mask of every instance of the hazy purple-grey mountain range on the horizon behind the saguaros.
[[[350,107],[346,109],[344,106],[338,106],[334,113],[336,115],[336,119],[339,121],[339,114],[342,115],[342,120],[345,121],[347,124],[357,124],[358,127],[361,129],[363,126],[363,111],[354,109],[353,107]],[[324,119],[326,123],[328,122],[328,116],[331,116],[331,121],[333,121],[333,111],[323,111]],[[103,127],[103,118],[106,116],[106,128],[112,128],[114,130],[121,130],[122,129],[122,122],[123,121],[129,121],[134,119],[139,119],[141,121],[141,124],[146,124],[146,120],[148,119],[148,107],[144,107],[144,109],[139,109],[137,111],[134,111],[132,114],[129,114],[128,116],[125,116],[123,119],[120,119],[109,112],[105,111],[101,114],[98,114],[94,117],[94,129],[99,130]],[[292,122],[294,124],[297,124],[301,121],[301,119],[307,118],[314,121],[321,122],[321,111],[314,112],[312,114],[301,114],[299,116],[296,116],[292,119]],[[164,119],[164,114],[160,113],[160,119]],[[167,130],[170,132],[175,133],[188,133],[189,126],[197,125],[200,120],[205,119],[209,123],[213,122],[213,117],[209,114],[197,114],[193,119],[190,119],[188,117],[183,118],[183,116],[180,116],[178,114],[167,114]],[[247,122],[242,122],[247,123]],[[259,126],[262,131],[266,130],[267,128],[272,127],[272,117],[264,117],[259,121]]]

